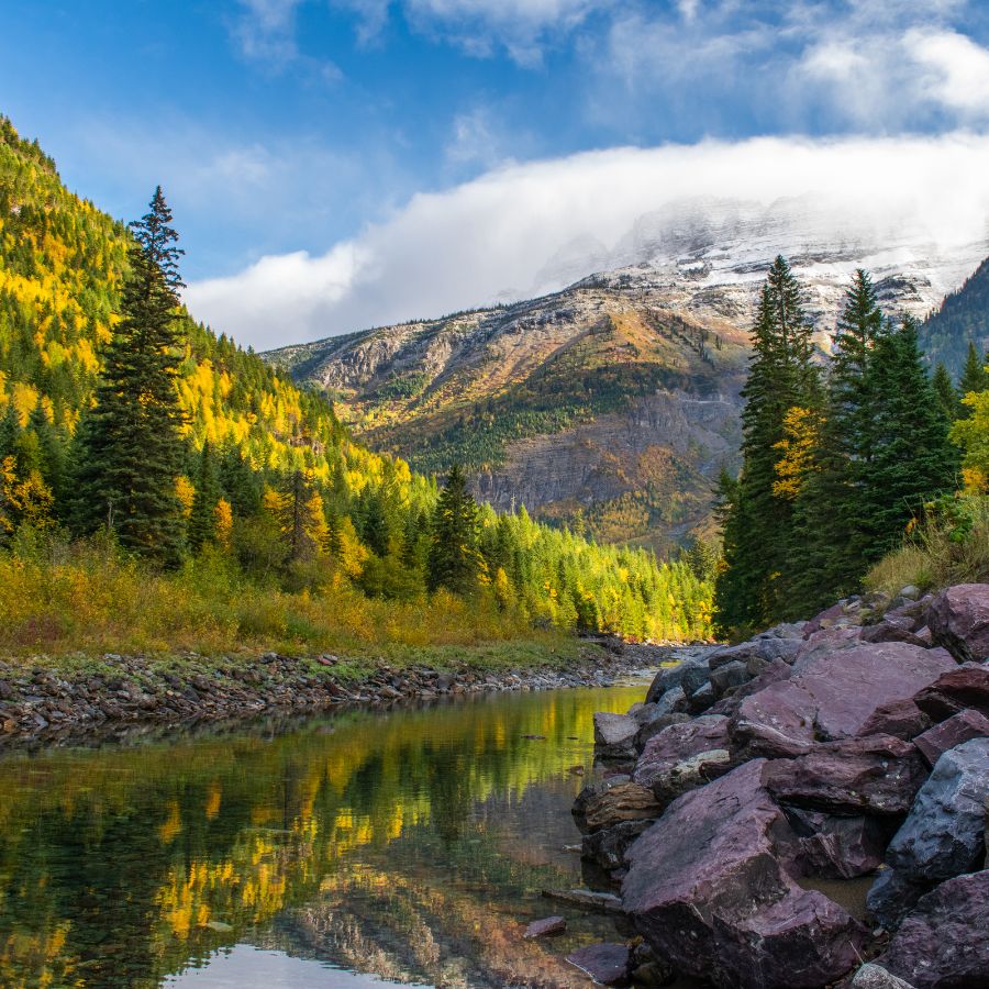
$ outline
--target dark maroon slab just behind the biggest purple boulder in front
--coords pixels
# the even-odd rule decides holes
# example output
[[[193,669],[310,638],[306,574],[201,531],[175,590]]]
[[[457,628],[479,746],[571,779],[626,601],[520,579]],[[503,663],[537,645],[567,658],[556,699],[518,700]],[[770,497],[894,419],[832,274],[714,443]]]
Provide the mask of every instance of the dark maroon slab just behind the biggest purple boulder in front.
[[[920,753],[892,735],[815,745],[774,759],[763,784],[779,801],[829,813],[904,814],[927,775]]]

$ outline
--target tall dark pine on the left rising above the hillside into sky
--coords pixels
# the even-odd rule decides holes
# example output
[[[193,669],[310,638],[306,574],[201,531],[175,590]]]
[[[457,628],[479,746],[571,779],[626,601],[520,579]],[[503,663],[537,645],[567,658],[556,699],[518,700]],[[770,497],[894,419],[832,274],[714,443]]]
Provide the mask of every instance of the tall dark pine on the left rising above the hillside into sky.
[[[184,535],[176,496],[184,447],[176,390],[182,252],[170,223],[158,187],[149,211],[131,224],[121,321],[79,433],[73,521],[81,533],[105,525],[124,547],[174,566]]]

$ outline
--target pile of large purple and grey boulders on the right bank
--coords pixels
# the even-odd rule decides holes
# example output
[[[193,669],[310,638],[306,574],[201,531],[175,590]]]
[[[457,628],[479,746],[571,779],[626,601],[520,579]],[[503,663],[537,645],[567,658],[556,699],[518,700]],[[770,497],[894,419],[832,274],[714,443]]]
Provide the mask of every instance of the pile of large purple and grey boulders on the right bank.
[[[677,658],[597,716],[625,765],[574,808],[652,955],[636,984],[989,987],[989,586]],[[821,891],[862,877],[857,916]]]

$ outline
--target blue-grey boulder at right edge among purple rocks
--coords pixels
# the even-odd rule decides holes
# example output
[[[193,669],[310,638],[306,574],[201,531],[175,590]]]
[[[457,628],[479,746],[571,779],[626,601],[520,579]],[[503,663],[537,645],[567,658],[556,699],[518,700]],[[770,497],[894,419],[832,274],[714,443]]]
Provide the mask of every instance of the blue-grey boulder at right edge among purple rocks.
[[[989,738],[973,738],[937,760],[889,844],[891,871],[869,890],[869,909],[886,926],[894,927],[934,884],[979,868],[987,793]]]

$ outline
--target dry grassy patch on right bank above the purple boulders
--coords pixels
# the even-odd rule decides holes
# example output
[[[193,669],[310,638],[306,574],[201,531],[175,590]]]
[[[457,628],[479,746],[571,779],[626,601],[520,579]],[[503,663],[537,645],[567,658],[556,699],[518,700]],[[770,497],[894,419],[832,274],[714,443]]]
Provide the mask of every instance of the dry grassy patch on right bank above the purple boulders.
[[[910,584],[922,591],[989,581],[989,498],[964,497],[941,507],[903,545],[866,576],[873,591],[896,594]]]

